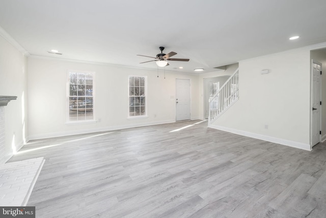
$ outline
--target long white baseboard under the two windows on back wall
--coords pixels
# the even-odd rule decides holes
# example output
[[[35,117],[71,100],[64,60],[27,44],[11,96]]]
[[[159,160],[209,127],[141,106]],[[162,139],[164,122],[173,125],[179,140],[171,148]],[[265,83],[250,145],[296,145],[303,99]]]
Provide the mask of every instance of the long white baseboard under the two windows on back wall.
[[[133,127],[151,126],[151,125],[174,123],[174,122],[175,122],[175,120],[165,120],[165,121],[160,121],[160,122],[135,123],[135,124],[128,124],[128,125],[106,126],[106,127],[92,128],[92,129],[62,131],[62,132],[53,132],[53,133],[45,133],[45,134],[34,134],[34,135],[29,135],[29,140],[48,139],[48,138],[55,138],[55,137],[64,137],[64,136],[68,136],[68,135],[112,131],[112,130],[117,130],[117,129],[127,129],[127,128],[133,128]]]

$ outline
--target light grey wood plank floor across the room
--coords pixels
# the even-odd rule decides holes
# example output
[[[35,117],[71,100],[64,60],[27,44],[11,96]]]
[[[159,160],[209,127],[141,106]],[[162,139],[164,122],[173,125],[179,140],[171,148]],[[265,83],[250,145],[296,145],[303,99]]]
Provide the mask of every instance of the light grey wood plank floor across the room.
[[[28,203],[37,217],[326,217],[325,144],[196,122],[33,141],[10,161],[45,158]]]

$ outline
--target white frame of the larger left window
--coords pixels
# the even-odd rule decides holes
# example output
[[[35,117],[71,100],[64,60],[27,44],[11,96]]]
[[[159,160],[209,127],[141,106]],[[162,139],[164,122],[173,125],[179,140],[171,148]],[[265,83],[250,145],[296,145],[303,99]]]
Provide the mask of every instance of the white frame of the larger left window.
[[[70,115],[69,115],[69,111],[70,111],[70,102],[69,102],[69,98],[72,97],[70,96],[70,73],[84,73],[84,74],[92,74],[93,76],[93,90],[92,90],[92,96],[93,97],[93,119],[88,119],[88,120],[76,120],[76,121],[70,121]],[[96,119],[95,119],[95,72],[94,71],[84,71],[84,70],[67,70],[67,88],[66,88],[67,92],[66,92],[66,97],[67,97],[67,103],[66,103],[66,108],[67,108],[67,121],[66,124],[67,125],[77,125],[77,124],[88,124],[88,123],[96,123]],[[87,97],[85,95],[85,97]],[[88,96],[90,97],[90,96]]]

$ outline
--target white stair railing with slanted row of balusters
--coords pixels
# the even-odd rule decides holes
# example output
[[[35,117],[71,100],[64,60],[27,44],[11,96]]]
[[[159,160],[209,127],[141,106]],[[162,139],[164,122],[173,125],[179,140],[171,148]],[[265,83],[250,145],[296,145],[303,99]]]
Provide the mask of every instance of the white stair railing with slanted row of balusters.
[[[239,69],[236,69],[218,92],[209,99],[208,125],[239,99]]]

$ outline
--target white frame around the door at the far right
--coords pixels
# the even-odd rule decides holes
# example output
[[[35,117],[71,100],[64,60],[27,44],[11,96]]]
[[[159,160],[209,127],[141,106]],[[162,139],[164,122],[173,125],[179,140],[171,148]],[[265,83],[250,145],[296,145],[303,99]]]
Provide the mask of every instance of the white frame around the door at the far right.
[[[320,69],[322,68],[322,64],[319,63],[318,61],[315,61],[313,59],[311,59],[311,68],[310,68],[310,148],[312,149],[313,143],[312,143],[312,127],[313,127],[313,117],[312,117],[312,107],[313,107],[313,64],[318,64],[320,65]],[[319,98],[321,100],[321,76],[319,77]],[[321,107],[322,105],[320,105],[319,107],[319,129],[321,130]],[[321,134],[319,134],[319,143],[321,142]],[[317,143],[318,144],[318,143]]]

